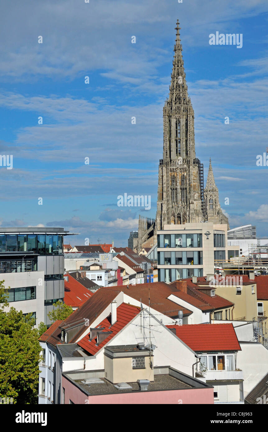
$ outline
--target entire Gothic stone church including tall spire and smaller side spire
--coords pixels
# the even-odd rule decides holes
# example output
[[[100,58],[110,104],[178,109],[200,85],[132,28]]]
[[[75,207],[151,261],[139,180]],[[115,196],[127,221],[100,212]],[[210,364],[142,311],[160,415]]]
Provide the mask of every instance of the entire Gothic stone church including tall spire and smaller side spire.
[[[194,110],[187,91],[177,20],[169,97],[163,108],[163,159],[158,171],[156,219],[140,217],[138,251],[152,247],[164,225],[187,222],[227,223],[211,164],[204,191],[203,164],[195,156]],[[211,184],[211,186],[210,186]],[[211,192],[209,192],[211,190]]]

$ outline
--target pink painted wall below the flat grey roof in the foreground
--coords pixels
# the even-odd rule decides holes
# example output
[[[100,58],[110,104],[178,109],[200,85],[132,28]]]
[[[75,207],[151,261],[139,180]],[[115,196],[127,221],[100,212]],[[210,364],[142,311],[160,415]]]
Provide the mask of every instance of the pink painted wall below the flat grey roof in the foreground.
[[[141,404],[141,403],[164,403],[164,404],[214,404],[213,388],[196,388],[185,390],[166,391],[144,391],[121,394],[103,394],[100,396],[87,397],[79,388],[66,378],[62,377],[62,386],[65,388],[65,403],[69,399],[77,404]]]

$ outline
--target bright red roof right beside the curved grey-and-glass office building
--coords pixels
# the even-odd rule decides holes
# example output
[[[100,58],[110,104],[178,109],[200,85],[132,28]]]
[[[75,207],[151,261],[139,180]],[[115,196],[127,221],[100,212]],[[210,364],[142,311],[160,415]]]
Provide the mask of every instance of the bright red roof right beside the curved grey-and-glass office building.
[[[93,293],[70,276],[70,274],[64,276],[68,276],[68,282],[64,279],[64,303],[72,308],[82,306]]]

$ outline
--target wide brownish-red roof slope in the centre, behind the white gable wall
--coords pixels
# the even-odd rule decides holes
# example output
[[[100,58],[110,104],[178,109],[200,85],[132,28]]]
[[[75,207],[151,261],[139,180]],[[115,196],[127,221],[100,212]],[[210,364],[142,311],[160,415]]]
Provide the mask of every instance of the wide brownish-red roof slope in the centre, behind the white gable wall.
[[[161,312],[168,317],[178,317],[178,312],[183,311],[184,315],[192,314],[192,311],[180,306],[177,303],[169,300],[170,294],[177,292],[178,290],[174,287],[170,287],[165,282],[154,282],[154,283],[139,283],[137,285],[121,285],[109,287],[109,290],[117,292],[123,291],[133,299],[136,299],[144,304],[149,305],[149,288],[150,288],[150,305],[156,311]],[[107,288],[103,288],[107,289]],[[94,294],[95,295],[95,294]]]

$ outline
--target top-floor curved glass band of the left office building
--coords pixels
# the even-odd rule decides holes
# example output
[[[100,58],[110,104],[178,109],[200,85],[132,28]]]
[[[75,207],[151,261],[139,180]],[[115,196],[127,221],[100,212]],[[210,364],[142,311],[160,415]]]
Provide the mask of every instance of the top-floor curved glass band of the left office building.
[[[35,252],[39,255],[61,255],[63,236],[57,234],[1,234],[0,252]]]

